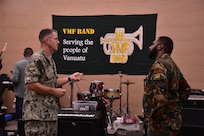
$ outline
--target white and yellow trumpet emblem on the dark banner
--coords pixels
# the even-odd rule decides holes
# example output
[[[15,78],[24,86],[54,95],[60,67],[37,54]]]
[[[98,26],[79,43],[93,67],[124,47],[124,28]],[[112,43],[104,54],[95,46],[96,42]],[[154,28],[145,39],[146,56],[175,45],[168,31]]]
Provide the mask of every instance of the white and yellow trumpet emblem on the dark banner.
[[[125,33],[125,28],[115,28],[115,33],[100,37],[104,53],[110,55],[110,63],[127,63],[128,56],[134,51],[134,43],[143,49],[143,26],[133,33]]]

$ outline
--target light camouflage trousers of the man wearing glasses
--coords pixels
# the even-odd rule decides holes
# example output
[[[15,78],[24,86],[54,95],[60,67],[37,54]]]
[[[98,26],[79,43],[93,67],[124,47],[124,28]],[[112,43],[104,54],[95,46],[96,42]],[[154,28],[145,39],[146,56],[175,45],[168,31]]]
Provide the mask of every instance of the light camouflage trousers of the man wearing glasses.
[[[57,121],[25,121],[25,136],[57,136]]]

